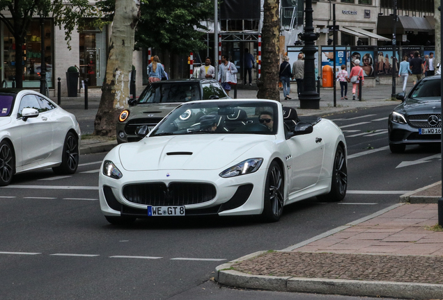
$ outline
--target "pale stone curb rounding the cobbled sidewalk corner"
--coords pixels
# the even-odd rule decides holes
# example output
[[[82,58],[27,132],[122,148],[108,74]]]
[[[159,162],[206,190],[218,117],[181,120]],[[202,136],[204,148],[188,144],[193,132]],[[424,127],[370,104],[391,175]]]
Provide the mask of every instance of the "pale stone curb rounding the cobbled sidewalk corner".
[[[443,285],[440,284],[251,275],[231,269],[235,263],[260,256],[266,252],[259,251],[219,265],[215,269],[215,281],[234,288],[250,288],[276,292],[306,292],[406,299],[443,298]]]

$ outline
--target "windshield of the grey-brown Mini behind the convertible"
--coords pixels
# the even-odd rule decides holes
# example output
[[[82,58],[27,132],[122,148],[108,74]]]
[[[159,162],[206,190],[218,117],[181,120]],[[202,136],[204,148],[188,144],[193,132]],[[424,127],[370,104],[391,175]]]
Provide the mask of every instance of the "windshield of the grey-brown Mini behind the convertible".
[[[199,83],[153,83],[143,90],[137,103],[201,100]]]

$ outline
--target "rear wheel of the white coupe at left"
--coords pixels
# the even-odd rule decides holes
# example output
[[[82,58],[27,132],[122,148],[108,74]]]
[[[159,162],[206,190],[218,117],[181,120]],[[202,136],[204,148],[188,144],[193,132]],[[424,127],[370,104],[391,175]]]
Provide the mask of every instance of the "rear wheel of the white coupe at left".
[[[61,153],[61,165],[53,167],[56,174],[74,174],[79,166],[79,139],[77,136],[68,132],[63,144]]]

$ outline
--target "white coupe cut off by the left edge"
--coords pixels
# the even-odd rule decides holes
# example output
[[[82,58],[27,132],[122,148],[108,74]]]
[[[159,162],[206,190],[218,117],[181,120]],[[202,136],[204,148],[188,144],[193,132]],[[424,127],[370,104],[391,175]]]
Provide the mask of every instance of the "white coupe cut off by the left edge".
[[[35,169],[75,173],[81,134],[74,115],[33,90],[0,89],[0,105],[0,186]]]

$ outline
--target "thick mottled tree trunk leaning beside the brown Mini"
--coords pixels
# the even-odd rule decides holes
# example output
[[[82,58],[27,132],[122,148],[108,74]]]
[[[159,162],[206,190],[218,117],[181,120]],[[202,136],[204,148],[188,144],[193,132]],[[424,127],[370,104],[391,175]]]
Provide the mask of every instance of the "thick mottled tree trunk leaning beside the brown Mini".
[[[102,98],[95,115],[94,134],[116,135],[118,114],[130,99],[130,72],[134,51],[134,31],[140,14],[139,1],[116,0],[114,22]]]

